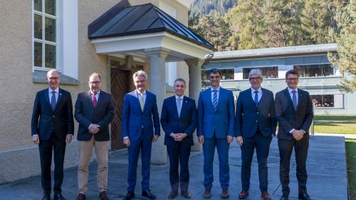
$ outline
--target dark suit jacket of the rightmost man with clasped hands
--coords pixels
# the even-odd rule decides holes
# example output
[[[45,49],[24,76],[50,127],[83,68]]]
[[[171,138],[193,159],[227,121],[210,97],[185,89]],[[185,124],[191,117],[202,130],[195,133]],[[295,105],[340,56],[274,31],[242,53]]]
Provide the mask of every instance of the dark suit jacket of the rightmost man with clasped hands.
[[[305,137],[309,137],[309,127],[313,121],[313,105],[310,95],[298,88],[298,107],[295,112],[288,89],[276,93],[276,117],[278,120],[278,138],[293,140],[290,130],[304,130]]]

